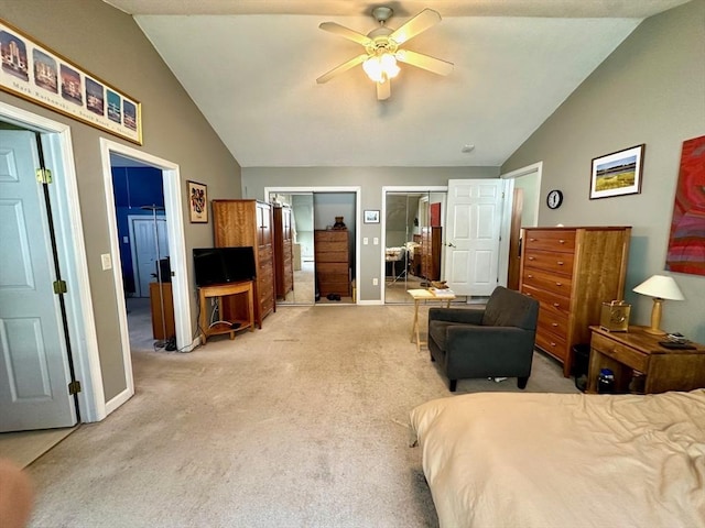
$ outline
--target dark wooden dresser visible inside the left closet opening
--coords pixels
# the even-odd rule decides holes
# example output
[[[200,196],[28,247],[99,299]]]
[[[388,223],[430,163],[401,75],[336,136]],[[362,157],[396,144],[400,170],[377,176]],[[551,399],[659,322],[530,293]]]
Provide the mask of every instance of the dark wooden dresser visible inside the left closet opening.
[[[314,231],[316,280],[322,297],[337,294],[350,297],[350,251],[348,230]]]

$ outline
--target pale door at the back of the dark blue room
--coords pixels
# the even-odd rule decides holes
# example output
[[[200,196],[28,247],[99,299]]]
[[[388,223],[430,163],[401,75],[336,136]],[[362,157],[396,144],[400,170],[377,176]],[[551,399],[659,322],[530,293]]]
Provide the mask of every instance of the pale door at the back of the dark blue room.
[[[156,262],[169,256],[166,219],[156,217],[156,232],[154,232],[153,218],[131,217],[130,223],[133,248],[132,268],[134,270],[134,284],[138,287],[137,294],[138,297],[149,297],[150,283],[155,282]]]

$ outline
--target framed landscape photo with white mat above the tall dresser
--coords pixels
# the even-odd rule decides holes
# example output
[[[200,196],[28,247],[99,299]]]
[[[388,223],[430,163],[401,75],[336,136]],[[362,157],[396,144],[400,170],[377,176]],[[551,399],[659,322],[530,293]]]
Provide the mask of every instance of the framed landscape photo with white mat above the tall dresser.
[[[593,160],[590,200],[641,193],[644,144]]]

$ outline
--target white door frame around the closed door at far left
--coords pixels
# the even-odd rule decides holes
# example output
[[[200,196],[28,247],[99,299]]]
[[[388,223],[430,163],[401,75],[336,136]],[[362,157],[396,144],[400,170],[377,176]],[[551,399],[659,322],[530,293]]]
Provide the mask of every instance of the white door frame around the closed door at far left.
[[[68,284],[64,300],[73,363],[76,378],[82,383],[82,392],[77,395],[80,420],[100,421],[107,416],[107,409],[70,127],[1,101],[0,118],[42,134],[44,157],[54,173],[53,185],[58,196],[58,204],[54,205],[53,210],[54,228],[65,241],[59,258]]]

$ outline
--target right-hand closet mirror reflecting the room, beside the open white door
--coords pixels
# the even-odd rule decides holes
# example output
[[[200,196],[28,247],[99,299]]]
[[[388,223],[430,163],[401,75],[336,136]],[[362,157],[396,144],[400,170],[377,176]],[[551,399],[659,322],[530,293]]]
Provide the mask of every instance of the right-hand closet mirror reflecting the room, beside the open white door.
[[[383,298],[410,304],[408,289],[443,279],[446,187],[383,189]]]

